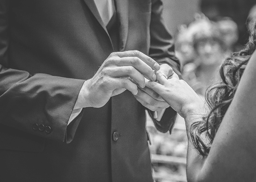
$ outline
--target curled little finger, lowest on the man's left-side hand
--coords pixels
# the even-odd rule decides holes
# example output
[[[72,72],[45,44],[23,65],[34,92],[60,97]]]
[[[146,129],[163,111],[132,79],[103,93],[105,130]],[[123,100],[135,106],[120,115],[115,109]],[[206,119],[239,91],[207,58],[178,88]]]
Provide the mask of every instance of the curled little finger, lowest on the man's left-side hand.
[[[110,78],[109,83],[106,84],[109,90],[113,91],[116,89],[125,88],[132,92],[133,95],[138,93],[138,87],[136,84],[132,83],[130,80],[125,78]]]

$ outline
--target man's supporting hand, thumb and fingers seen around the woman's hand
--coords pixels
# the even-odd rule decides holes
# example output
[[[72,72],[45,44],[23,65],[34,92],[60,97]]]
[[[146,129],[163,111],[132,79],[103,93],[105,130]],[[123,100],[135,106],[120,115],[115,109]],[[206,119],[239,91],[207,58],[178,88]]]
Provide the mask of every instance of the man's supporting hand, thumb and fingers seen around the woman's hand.
[[[161,64],[159,71],[167,79],[179,79],[178,75],[168,64]],[[135,95],[135,98],[151,111],[161,111],[169,107],[169,104],[166,103],[157,92],[148,87],[138,88],[138,94]]]

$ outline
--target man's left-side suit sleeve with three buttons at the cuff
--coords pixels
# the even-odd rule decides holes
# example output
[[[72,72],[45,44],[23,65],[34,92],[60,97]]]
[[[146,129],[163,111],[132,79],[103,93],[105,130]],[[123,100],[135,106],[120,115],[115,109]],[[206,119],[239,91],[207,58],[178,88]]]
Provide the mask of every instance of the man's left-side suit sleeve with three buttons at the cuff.
[[[0,125],[33,135],[70,142],[69,116],[84,80],[33,74],[9,67],[9,1],[0,1]]]

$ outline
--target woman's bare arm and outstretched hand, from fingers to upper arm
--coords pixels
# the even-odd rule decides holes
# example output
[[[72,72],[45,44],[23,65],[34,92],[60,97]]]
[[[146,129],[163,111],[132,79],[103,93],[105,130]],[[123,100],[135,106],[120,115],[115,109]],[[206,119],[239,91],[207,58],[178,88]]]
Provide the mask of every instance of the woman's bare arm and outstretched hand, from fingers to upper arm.
[[[249,60],[236,95],[214,138],[208,157],[197,153],[188,142],[189,182],[234,182],[256,180],[256,54]],[[158,78],[161,77],[158,75]],[[164,78],[161,77],[163,80]],[[184,81],[147,83],[184,118],[189,127],[202,114],[203,102]],[[189,135],[188,135],[189,137]]]

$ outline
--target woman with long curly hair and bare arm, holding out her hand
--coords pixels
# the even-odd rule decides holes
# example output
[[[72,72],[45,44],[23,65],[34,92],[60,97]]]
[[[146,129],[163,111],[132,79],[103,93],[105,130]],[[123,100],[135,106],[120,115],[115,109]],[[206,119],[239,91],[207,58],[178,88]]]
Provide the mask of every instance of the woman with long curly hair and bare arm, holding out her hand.
[[[188,182],[255,182],[256,24],[248,44],[225,59],[205,102],[184,80],[147,82],[184,119]]]

